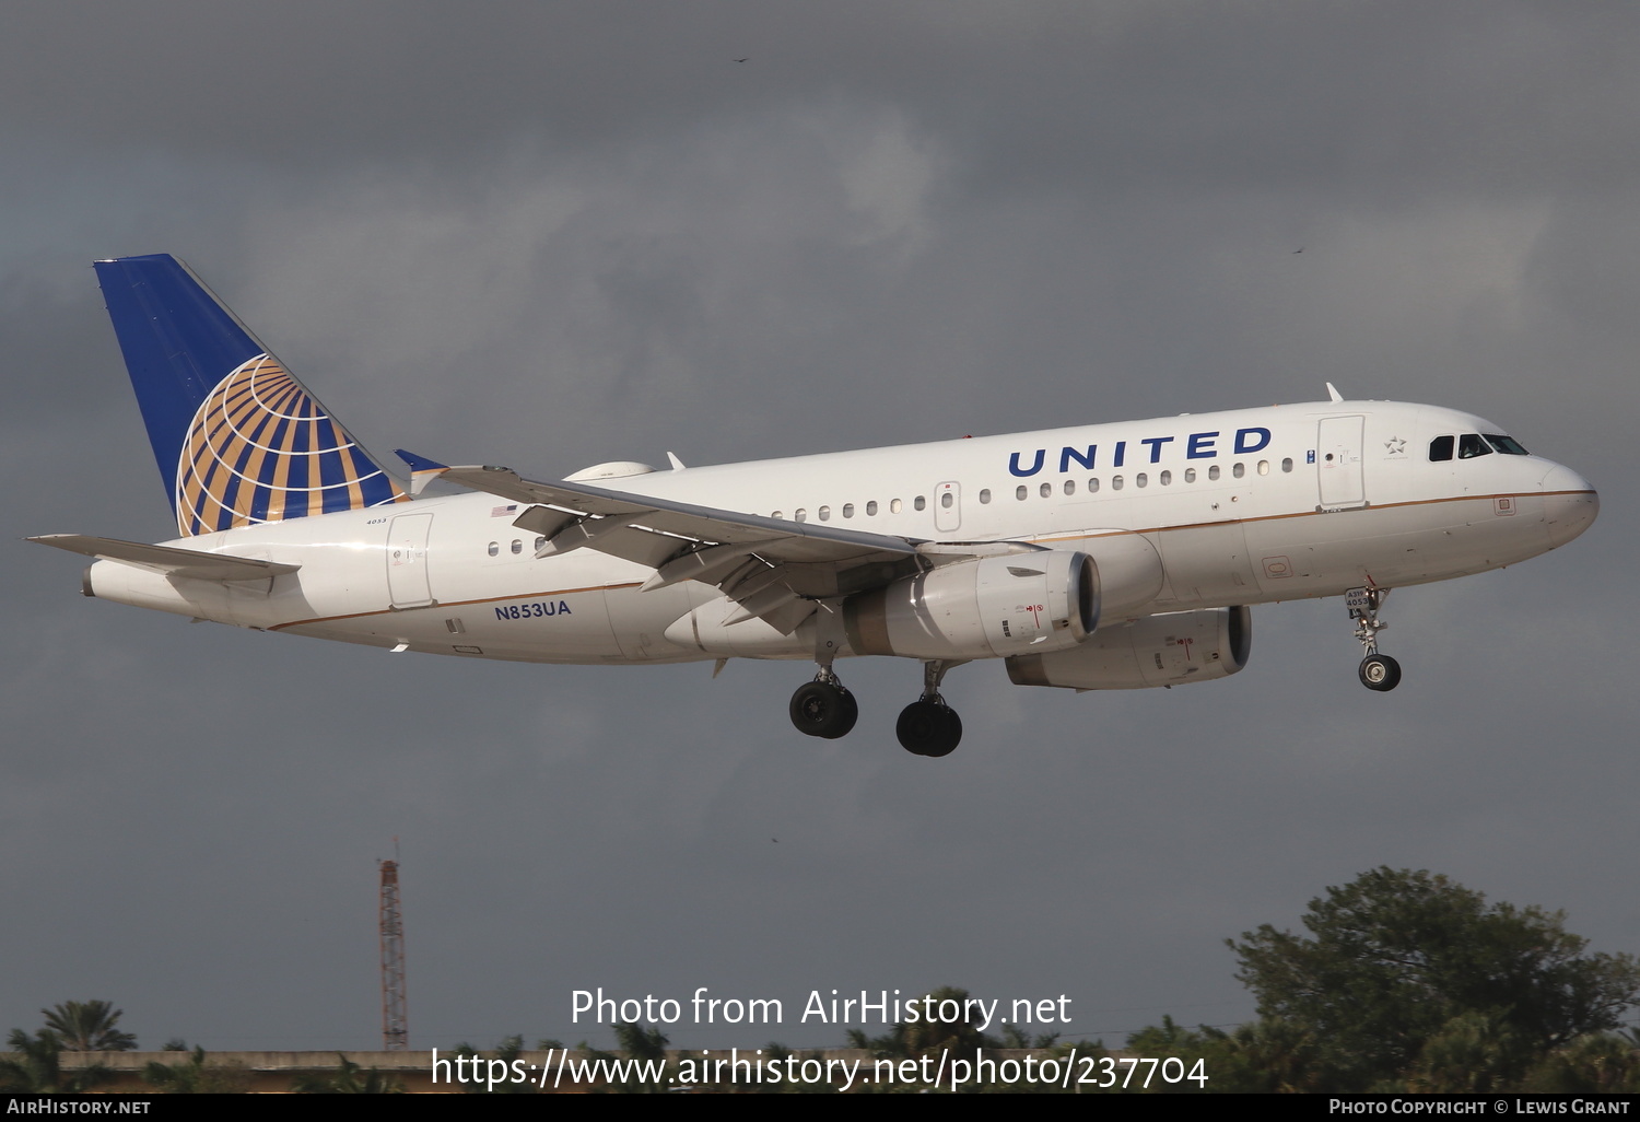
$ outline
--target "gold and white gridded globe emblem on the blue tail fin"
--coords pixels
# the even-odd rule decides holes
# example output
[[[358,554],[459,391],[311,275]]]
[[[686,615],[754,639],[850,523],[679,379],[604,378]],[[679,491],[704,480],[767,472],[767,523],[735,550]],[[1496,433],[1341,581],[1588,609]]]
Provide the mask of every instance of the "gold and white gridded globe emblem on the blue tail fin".
[[[407,499],[269,354],[246,361],[205,397],[177,463],[184,536]]]

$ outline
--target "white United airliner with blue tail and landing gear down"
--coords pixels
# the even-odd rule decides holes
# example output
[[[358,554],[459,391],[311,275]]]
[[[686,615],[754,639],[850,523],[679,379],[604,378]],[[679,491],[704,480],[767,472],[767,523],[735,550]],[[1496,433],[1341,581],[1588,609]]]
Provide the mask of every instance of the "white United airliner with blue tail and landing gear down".
[[[44,535],[97,558],[85,595],[390,651],[531,663],[812,659],[799,732],[858,718],[835,669],[913,658],[900,745],[963,735],[945,674],[1173,687],[1238,673],[1250,605],[1345,597],[1373,691],[1392,587],[1547,553],[1599,495],[1502,426],[1328,400],[556,482],[399,454],[389,474],[177,259],[97,277],[175,515],[159,545]],[[431,481],[454,494],[426,492]]]

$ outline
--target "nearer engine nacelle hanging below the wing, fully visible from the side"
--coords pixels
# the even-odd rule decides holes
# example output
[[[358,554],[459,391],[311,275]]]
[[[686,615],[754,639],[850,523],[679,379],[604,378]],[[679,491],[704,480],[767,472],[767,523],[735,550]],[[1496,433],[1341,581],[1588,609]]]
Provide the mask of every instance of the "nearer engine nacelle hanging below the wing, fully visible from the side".
[[[1043,550],[943,564],[843,602],[856,654],[1002,658],[1063,651],[1099,627],[1099,569]]]

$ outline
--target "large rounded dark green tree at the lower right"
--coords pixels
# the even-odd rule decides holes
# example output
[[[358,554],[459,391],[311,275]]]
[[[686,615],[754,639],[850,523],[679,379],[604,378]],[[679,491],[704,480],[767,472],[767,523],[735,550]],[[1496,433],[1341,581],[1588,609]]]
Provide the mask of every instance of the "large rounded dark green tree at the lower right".
[[[1424,1079],[1451,1086],[1461,1056],[1491,1084],[1519,1079],[1640,999],[1640,963],[1586,955],[1565,912],[1487,907],[1428,871],[1378,868],[1328,887],[1304,927],[1309,938],[1266,924],[1227,942],[1260,1014],[1309,1032],[1340,1091],[1414,1076],[1420,1060]],[[1440,1055],[1425,1056],[1437,1038]]]

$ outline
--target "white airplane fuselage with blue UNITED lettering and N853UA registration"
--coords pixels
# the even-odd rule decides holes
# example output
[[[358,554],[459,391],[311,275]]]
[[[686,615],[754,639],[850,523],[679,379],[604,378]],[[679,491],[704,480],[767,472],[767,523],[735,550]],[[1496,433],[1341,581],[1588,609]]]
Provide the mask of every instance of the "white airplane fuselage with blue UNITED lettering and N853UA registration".
[[[1527,454],[1430,459],[1437,436],[1497,431],[1446,408],[1330,402],[597,482],[912,540],[1082,550],[1140,574],[1120,582],[1125,600],[1107,595],[1109,623],[1443,581],[1581,533],[1597,499],[1566,468]],[[536,559],[538,540],[512,525],[522,510],[459,494],[228,530],[174,545],[300,571],[223,584],[98,561],[87,587],[239,627],[472,658],[813,656],[802,628],[722,627],[723,597],[707,584],[640,592],[653,569],[587,548]]]

